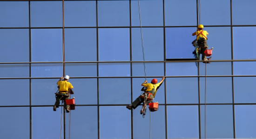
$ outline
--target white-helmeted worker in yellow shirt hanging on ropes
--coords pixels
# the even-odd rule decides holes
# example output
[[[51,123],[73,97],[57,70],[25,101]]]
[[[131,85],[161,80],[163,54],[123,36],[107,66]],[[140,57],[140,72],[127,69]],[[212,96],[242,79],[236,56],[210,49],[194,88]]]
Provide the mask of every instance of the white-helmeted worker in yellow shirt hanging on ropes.
[[[57,82],[59,92],[56,94],[56,101],[54,104],[54,111],[56,111],[56,107],[60,106],[60,101],[62,99],[66,100],[69,99],[69,91],[74,88],[73,85],[70,82],[67,82],[69,80],[69,76],[66,75],[65,77],[61,77],[61,79]],[[72,91],[73,92],[73,91]],[[69,105],[66,104],[66,101],[64,101],[64,106],[66,108],[67,113],[69,113]]]

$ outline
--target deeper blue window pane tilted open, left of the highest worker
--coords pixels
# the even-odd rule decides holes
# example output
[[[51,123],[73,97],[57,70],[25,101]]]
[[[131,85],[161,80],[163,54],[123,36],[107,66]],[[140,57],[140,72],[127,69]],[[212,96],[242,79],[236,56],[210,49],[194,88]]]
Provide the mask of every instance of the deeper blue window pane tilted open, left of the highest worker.
[[[194,58],[195,47],[191,43],[195,31],[194,27],[166,28],[166,58]]]

